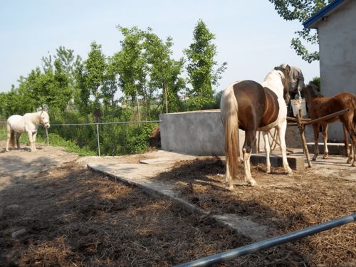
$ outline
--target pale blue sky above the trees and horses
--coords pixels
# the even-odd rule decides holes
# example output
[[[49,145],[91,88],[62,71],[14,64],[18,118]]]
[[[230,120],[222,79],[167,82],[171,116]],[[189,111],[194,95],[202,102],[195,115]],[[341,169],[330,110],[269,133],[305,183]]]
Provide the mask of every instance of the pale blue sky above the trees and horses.
[[[172,36],[174,58],[192,43],[198,19],[216,35],[216,60],[226,61],[220,85],[235,80],[261,82],[274,66],[286,62],[303,70],[308,82],[319,76],[319,63],[307,63],[290,48],[295,21],[283,21],[268,0],[14,0],[1,1],[0,92],[18,78],[41,67],[41,58],[65,46],[83,59],[90,43],[103,46],[105,56],[120,51],[116,26],[152,28],[160,38]],[[318,47],[313,47],[313,49]]]

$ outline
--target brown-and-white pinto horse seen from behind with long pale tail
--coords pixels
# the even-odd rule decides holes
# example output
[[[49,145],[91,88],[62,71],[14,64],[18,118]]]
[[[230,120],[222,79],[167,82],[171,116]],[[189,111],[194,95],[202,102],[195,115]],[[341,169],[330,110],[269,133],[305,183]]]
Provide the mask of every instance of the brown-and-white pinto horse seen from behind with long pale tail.
[[[239,136],[238,128],[244,130],[245,142],[242,148],[244,157],[245,181],[256,186],[251,176],[250,157],[253,144],[256,140],[256,131],[263,133],[266,151],[266,170],[271,172],[269,155],[271,147],[268,140],[268,131],[276,127],[281,144],[283,167],[292,173],[286,156],[286,127],[287,106],[289,99],[288,88],[290,66],[276,67],[271,70],[263,83],[253,80],[243,80],[229,85],[221,96],[221,118],[225,130],[226,155],[226,189],[233,190],[232,179],[236,177],[239,163]]]

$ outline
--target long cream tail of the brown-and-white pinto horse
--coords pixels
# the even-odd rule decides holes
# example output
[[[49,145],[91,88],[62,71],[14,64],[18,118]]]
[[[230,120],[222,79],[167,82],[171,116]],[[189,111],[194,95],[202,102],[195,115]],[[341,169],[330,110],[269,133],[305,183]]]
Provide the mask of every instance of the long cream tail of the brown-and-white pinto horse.
[[[225,128],[226,172],[234,179],[239,167],[239,108],[232,85],[221,96],[220,107]]]

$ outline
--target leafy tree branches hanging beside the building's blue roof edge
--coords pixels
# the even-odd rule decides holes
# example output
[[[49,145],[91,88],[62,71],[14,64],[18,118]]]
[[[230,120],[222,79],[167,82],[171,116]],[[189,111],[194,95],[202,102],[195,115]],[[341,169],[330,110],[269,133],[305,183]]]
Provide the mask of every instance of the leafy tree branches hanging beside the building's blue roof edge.
[[[331,0],[268,0],[274,4],[276,11],[286,21],[299,21],[303,23],[310,16],[322,9],[325,5],[329,4]],[[305,47],[306,43],[316,44],[319,43],[318,32],[310,29],[303,28],[300,31],[295,31],[298,37],[292,38],[290,46],[295,50],[298,56],[301,56],[304,61],[308,63],[319,60],[319,52],[310,52]]]

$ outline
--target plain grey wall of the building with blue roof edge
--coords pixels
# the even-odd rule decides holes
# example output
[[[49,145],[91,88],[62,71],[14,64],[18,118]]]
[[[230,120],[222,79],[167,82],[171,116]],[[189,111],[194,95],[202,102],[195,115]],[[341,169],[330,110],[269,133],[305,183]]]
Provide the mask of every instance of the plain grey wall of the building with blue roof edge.
[[[318,23],[322,93],[356,94],[356,1],[347,1]],[[341,123],[329,125],[330,140],[344,140]]]

